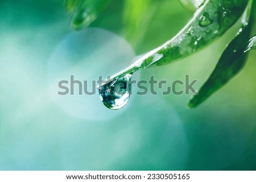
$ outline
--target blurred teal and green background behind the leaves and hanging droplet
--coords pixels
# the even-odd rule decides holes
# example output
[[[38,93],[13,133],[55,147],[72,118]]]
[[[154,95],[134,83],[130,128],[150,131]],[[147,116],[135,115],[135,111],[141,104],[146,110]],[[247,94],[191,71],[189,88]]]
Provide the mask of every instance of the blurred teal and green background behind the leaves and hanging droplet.
[[[193,15],[177,0],[131,2],[134,6],[114,1],[84,30],[94,28],[99,35],[103,31],[103,38],[122,40],[122,46],[115,48],[110,41],[106,47],[123,50],[121,56],[127,55],[127,60],[173,37]],[[144,6],[143,11],[137,13],[137,6]],[[191,95],[147,94],[132,95],[120,111],[106,110],[98,99],[72,115],[86,102],[85,96],[61,102],[57,92],[55,98],[49,91],[55,70],[64,74],[64,50],[70,50],[64,52],[68,56],[85,55],[82,49],[77,51],[77,40],[88,45],[86,53],[96,50],[90,54],[95,61],[69,58],[65,69],[76,67],[71,71],[75,76],[94,73],[102,64],[125,68],[131,60],[119,65],[105,49],[99,60],[99,40],[96,48],[90,48],[94,39],[88,41],[90,33],[85,33],[88,42],[82,42],[81,32],[69,26],[61,0],[2,0],[0,17],[0,170],[256,170],[256,52],[250,52],[236,78],[196,109],[186,107]],[[191,80],[199,80],[199,88],[232,36],[230,30],[201,52],[142,70],[137,79],[148,80],[154,74],[171,83],[184,81],[189,74]],[[65,45],[68,48],[61,47]],[[51,60],[58,65],[51,67]],[[110,68],[105,74],[113,74]]]

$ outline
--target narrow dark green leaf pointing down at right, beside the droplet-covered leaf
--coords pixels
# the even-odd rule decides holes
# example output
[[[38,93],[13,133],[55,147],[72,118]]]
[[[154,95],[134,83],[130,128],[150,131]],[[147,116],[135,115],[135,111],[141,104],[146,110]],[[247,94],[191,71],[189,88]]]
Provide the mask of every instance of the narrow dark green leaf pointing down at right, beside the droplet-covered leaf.
[[[228,45],[222,54],[218,64],[208,80],[200,88],[197,95],[193,95],[188,103],[188,107],[195,108],[203,103],[214,92],[225,86],[235,75],[237,75],[243,65],[245,65],[248,50],[255,49],[255,36],[245,44],[250,38],[253,16],[250,16],[250,9],[247,11],[247,18],[250,18],[249,26],[243,26],[238,32],[238,36]]]

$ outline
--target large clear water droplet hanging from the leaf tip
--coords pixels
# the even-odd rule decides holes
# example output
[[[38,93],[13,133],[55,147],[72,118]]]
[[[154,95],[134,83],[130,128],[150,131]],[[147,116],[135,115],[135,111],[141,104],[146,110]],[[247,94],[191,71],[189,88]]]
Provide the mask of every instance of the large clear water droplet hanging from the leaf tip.
[[[126,74],[98,88],[100,99],[106,107],[117,110],[127,104],[130,98],[131,76],[131,74]]]

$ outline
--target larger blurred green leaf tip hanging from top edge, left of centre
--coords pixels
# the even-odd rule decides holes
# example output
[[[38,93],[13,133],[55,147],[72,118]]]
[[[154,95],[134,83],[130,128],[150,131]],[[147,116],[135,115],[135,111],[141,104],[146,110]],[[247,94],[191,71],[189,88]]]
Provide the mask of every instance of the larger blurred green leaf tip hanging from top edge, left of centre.
[[[79,3],[73,12],[71,26],[81,29],[89,26],[113,0],[84,0]]]

